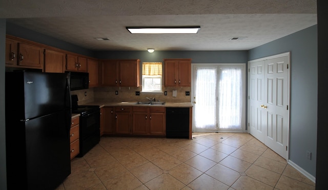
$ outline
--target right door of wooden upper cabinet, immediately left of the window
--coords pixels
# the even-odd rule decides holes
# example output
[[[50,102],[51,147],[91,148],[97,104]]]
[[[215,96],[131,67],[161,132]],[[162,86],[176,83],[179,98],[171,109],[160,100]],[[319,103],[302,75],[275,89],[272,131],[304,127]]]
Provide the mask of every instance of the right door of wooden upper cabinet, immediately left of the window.
[[[139,87],[139,61],[120,60],[119,61],[119,86]]]

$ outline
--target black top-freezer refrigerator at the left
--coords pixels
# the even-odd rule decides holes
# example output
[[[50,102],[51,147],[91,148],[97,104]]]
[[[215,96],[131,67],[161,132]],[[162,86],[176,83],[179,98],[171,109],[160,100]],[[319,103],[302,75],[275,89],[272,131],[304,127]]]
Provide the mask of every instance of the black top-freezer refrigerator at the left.
[[[5,83],[7,187],[55,189],[71,173],[67,74],[6,72]]]

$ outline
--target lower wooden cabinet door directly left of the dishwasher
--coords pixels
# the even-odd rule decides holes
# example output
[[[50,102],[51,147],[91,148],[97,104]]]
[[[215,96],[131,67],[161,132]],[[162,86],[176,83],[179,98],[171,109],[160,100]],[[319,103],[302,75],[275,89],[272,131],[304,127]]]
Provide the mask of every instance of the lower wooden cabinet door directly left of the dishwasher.
[[[150,113],[149,133],[151,135],[165,135],[165,113]]]

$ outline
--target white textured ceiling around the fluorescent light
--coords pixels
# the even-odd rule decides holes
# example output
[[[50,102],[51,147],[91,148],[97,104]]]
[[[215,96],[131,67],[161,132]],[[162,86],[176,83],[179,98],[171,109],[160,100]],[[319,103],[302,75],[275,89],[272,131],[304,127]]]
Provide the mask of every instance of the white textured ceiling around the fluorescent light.
[[[249,50],[317,24],[316,0],[7,0],[1,4],[0,18],[7,22],[91,50]],[[131,34],[127,26],[201,29],[197,34]]]

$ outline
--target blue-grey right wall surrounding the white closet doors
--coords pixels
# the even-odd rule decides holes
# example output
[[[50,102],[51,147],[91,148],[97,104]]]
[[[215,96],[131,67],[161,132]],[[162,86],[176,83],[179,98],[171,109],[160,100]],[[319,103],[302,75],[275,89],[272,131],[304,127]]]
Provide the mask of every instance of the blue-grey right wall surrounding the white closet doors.
[[[317,25],[249,50],[249,60],[291,52],[290,160],[315,176],[317,155]],[[312,160],[306,159],[312,152]]]

